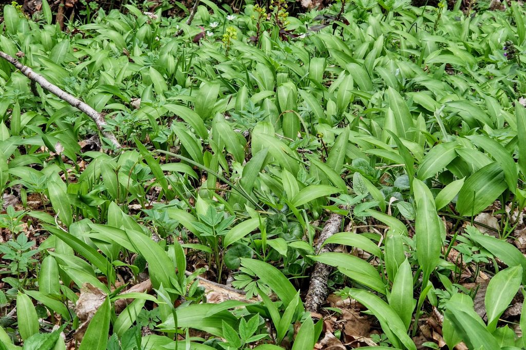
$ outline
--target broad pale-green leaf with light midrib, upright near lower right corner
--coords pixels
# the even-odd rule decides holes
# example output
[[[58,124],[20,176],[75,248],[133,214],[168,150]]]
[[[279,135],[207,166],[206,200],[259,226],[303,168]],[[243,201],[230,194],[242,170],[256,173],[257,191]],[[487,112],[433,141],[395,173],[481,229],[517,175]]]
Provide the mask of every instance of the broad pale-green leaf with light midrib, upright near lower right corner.
[[[517,265],[499,271],[488,284],[484,297],[488,315],[488,331],[497,328],[500,315],[508,308],[513,297],[519,291],[522,281],[522,266]]]

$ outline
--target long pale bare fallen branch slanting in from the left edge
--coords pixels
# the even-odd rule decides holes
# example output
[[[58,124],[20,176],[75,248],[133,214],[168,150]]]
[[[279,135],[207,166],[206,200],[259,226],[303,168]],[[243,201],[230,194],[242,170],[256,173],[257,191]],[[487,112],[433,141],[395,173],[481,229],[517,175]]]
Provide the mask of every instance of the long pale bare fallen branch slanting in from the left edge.
[[[51,92],[53,95],[68,102],[68,104],[72,105],[73,107],[87,114],[88,117],[91,118],[95,122],[95,124],[97,125],[97,128],[104,135],[104,137],[107,138],[110,142],[112,142],[113,145],[115,145],[115,147],[120,148],[120,143],[117,141],[113,133],[110,131],[104,130],[104,126],[106,126],[107,123],[104,117],[100,115],[99,112],[97,112],[95,109],[88,106],[85,102],[79,100],[78,98],[72,95],[69,95],[66,91],[60,89],[58,86],[49,83],[49,81],[47,81],[46,78],[44,78],[43,76],[39,74],[36,74],[33,69],[27,66],[24,66],[16,58],[9,56],[5,52],[2,52],[2,51],[0,51],[0,57],[2,57],[3,59],[11,63],[16,68],[20,69],[22,74],[28,77],[31,81],[35,81],[40,86],[42,86],[42,88]]]

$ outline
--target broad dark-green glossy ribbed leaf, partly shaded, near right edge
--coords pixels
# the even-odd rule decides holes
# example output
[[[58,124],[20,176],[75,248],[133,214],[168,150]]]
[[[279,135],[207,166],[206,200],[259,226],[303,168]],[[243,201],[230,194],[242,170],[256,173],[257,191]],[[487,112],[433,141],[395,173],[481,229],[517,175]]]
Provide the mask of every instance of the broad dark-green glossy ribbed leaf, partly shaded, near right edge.
[[[477,215],[486,209],[506,189],[499,163],[480,168],[464,182],[457,200],[457,211],[462,217]]]

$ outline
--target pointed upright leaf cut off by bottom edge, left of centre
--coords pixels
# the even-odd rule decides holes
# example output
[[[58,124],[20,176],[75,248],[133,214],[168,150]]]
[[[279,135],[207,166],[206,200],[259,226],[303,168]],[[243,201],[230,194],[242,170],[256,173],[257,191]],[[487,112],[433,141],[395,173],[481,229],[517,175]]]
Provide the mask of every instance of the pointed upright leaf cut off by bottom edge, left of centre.
[[[105,349],[109,336],[109,321],[111,319],[111,305],[106,297],[102,305],[89,321],[88,328],[82,338],[78,350]]]

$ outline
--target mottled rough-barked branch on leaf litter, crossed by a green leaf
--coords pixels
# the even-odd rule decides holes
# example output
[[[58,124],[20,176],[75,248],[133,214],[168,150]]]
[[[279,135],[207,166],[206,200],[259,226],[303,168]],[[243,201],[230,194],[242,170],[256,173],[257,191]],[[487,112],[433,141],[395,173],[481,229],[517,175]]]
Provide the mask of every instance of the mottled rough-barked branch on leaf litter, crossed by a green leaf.
[[[323,246],[323,242],[330,236],[340,231],[341,221],[343,217],[340,214],[332,213],[329,219],[325,222],[325,227],[320,233],[316,253],[330,252],[334,249],[333,244]],[[327,279],[332,271],[332,267],[320,262],[314,265],[310,277],[309,291],[305,298],[305,308],[310,312],[317,312],[321,304],[326,302],[327,298]]]

